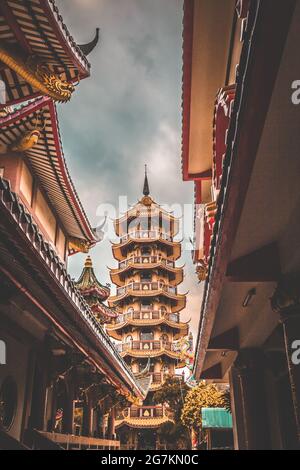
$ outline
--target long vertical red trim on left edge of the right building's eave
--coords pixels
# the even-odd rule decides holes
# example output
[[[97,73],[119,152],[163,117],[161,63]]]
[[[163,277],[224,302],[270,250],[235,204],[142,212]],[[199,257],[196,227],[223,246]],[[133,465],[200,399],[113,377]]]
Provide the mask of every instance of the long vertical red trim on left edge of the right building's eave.
[[[188,172],[190,144],[190,111],[192,86],[192,53],[194,32],[194,0],[185,0],[183,5],[183,69],[182,69],[182,140],[181,161],[184,181],[194,179]]]

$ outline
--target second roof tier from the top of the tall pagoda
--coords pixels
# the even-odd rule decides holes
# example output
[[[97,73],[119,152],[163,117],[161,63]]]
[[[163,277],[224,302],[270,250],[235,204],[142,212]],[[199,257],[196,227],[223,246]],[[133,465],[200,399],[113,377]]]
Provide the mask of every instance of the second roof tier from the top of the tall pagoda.
[[[134,244],[148,244],[148,243],[159,243],[163,247],[169,249],[169,254],[172,254],[174,260],[177,260],[181,256],[181,241],[170,241],[166,240],[161,234],[153,234],[153,237],[142,238],[136,236],[136,234],[130,234],[121,243],[112,243],[113,256],[116,260],[122,261],[128,257],[128,248]]]

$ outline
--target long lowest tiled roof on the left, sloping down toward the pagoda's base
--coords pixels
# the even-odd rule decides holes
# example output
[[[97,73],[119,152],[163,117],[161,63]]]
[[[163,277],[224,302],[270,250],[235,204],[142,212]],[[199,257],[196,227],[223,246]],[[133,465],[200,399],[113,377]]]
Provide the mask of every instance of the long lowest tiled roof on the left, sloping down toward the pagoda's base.
[[[13,261],[13,262],[12,262]],[[76,288],[7,180],[0,177],[0,272],[36,308],[36,323],[53,330],[128,399],[144,399],[117,348]]]

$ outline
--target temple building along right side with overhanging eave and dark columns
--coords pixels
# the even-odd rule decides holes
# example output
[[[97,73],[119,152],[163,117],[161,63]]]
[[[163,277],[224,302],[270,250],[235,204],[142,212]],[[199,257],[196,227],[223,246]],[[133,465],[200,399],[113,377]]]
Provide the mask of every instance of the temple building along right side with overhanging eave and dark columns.
[[[236,449],[300,445],[299,18],[293,0],[184,2],[182,168],[204,283],[194,374],[230,382]]]

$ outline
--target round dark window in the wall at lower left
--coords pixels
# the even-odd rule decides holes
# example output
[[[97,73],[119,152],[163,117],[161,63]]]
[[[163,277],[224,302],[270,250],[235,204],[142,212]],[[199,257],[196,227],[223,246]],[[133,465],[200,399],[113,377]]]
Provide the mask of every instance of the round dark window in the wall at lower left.
[[[0,388],[0,426],[6,431],[14,422],[17,402],[17,385],[11,377],[7,377]]]

